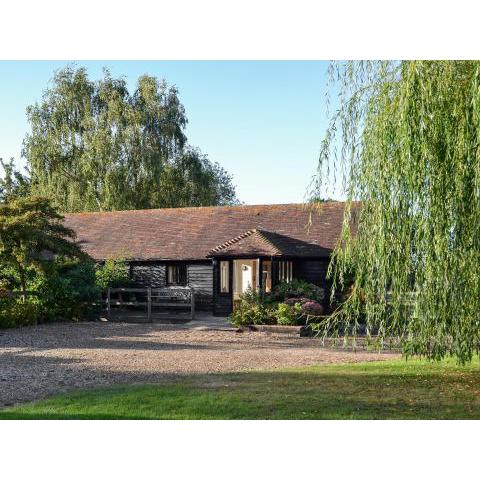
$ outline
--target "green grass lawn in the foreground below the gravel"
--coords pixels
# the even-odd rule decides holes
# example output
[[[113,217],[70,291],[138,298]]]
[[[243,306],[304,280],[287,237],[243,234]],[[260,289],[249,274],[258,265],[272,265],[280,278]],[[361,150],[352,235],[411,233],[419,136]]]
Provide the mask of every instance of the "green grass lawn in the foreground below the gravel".
[[[480,418],[480,363],[404,360],[77,391],[0,410],[1,419]]]

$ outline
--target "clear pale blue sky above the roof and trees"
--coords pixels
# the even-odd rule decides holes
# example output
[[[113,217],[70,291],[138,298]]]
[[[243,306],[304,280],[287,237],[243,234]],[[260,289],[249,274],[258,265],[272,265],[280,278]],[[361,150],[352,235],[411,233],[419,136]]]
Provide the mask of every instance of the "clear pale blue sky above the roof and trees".
[[[87,67],[91,79],[108,67],[131,91],[142,74],[164,78],[185,107],[188,142],[233,176],[240,201],[305,200],[327,126],[327,62],[0,61],[1,158],[25,166],[26,108],[68,63]]]

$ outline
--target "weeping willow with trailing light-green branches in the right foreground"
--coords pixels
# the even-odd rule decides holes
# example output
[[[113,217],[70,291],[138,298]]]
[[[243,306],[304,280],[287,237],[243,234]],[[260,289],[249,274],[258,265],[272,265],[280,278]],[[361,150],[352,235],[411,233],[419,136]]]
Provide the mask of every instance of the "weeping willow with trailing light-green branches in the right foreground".
[[[333,255],[344,303],[324,332],[400,339],[407,354],[480,350],[480,62],[333,64],[339,109],[317,191],[348,198]],[[357,203],[360,202],[360,203]]]

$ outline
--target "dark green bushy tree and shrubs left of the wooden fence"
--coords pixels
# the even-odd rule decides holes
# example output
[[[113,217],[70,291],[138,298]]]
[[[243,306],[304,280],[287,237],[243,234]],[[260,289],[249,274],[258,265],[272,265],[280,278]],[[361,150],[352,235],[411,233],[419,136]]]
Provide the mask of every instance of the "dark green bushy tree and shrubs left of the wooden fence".
[[[94,311],[95,263],[62,220],[42,197],[0,203],[0,327],[78,320]]]

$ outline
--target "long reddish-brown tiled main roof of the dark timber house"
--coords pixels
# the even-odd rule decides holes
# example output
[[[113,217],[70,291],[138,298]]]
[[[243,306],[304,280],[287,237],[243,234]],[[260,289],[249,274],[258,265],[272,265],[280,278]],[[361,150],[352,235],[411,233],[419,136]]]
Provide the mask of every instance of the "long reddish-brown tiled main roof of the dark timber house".
[[[255,243],[265,255],[322,256],[336,244],[343,210],[342,202],[326,202],[318,211],[302,204],[165,208],[68,214],[65,224],[97,260],[205,259],[237,237],[237,247],[249,238],[245,248]]]

